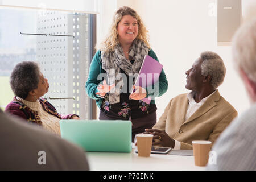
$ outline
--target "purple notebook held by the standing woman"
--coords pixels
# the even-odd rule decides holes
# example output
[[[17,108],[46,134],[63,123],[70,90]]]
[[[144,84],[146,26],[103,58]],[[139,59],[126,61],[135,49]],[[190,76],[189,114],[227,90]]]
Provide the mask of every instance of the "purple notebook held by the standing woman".
[[[154,58],[145,55],[134,85],[141,86],[145,89],[151,85],[154,85],[154,83],[158,81],[162,69],[162,64],[160,64]],[[133,91],[130,93],[133,93]],[[150,104],[151,97],[143,98],[141,101]]]

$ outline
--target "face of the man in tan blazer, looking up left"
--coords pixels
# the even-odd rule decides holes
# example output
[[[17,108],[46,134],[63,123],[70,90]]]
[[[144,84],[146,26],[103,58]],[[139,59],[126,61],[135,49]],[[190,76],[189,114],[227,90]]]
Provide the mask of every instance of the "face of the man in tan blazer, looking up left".
[[[185,88],[192,91],[199,91],[203,86],[204,76],[201,75],[201,64],[203,60],[201,58],[196,59],[188,71],[185,72],[187,75],[187,84]]]

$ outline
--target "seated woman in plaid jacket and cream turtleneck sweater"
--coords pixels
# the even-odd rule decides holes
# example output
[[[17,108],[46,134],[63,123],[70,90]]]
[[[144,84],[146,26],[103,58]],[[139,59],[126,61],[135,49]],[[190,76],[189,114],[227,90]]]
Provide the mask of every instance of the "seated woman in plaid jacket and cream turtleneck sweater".
[[[79,119],[76,114],[57,113],[55,107],[40,98],[48,92],[49,84],[35,62],[23,61],[17,64],[11,73],[10,84],[16,96],[5,111],[59,135],[60,119]]]

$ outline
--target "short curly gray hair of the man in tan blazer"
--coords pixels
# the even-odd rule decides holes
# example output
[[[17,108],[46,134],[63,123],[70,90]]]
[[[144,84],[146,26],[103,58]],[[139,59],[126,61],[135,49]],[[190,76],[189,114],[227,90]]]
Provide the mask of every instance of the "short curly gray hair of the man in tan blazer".
[[[201,64],[201,74],[203,76],[212,76],[210,84],[216,89],[222,84],[226,75],[226,67],[221,57],[212,51],[204,51],[200,55],[203,63]]]

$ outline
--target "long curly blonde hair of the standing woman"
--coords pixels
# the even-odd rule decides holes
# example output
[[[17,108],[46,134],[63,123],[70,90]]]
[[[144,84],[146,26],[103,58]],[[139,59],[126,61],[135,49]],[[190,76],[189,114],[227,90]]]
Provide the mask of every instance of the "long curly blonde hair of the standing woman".
[[[146,30],[146,27],[144,26],[141,17],[131,9],[130,7],[123,6],[120,7],[117,12],[114,14],[113,22],[110,26],[110,31],[108,36],[106,36],[105,40],[101,43],[100,49],[104,52],[110,52],[114,51],[114,47],[119,44],[118,40],[118,32],[117,32],[117,25],[121,21],[122,17],[125,15],[131,15],[133,18],[137,20],[138,23],[138,35],[136,39],[142,40],[148,49],[150,49],[149,39],[148,39],[148,31]]]

